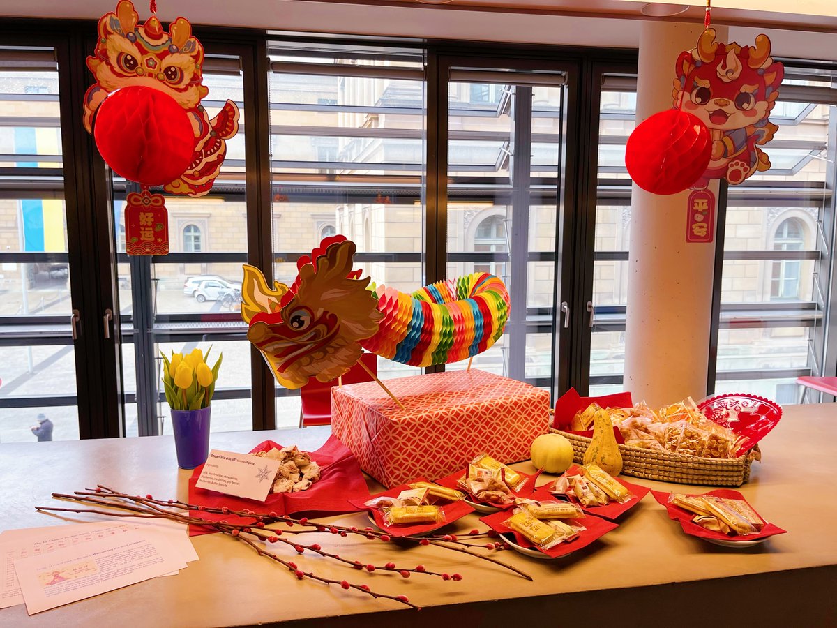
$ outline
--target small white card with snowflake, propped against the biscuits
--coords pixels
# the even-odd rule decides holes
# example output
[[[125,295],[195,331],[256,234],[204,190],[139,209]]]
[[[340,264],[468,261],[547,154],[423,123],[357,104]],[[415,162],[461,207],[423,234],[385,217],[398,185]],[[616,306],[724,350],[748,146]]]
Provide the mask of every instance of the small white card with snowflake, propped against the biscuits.
[[[213,449],[195,486],[264,502],[279,466],[267,457]]]

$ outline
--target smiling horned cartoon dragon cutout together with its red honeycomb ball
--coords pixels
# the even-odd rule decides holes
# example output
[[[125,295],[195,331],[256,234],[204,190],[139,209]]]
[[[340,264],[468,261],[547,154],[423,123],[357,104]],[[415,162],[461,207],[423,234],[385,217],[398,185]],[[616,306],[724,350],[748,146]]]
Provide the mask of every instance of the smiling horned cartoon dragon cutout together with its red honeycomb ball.
[[[770,167],[767,153],[759,147],[778,129],[769,116],[784,77],[783,65],[770,57],[767,35],[758,35],[755,46],[743,48],[715,39],[715,29],[706,28],[694,49],[680,53],[673,92],[676,113],[651,116],[629,139],[625,162],[634,182],[648,192],[702,190],[716,178],[737,185]],[[663,121],[664,114],[678,122]],[[689,127],[686,133],[706,133],[709,146],[696,142],[699,146],[692,152],[683,152],[682,142],[677,147],[679,136],[673,138],[673,133],[679,132],[675,131],[678,116],[687,116],[688,123],[680,125]],[[640,153],[653,153],[653,157],[638,158]],[[689,160],[706,162],[706,166],[698,168],[697,174],[691,168],[688,175],[677,177],[683,162]]]

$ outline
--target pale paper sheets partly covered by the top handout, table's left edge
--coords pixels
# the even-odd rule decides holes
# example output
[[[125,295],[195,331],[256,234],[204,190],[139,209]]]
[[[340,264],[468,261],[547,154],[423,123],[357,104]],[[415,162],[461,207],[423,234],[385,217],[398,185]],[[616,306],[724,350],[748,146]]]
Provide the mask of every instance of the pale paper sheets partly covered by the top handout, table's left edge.
[[[198,560],[187,527],[166,519],[132,519],[131,521],[76,523],[48,528],[22,528],[0,534],[0,609],[23,604],[23,594],[14,571],[14,562],[40,556],[129,530],[143,530],[147,535],[162,535],[172,548],[172,557],[182,562]],[[172,572],[166,575],[177,575]]]

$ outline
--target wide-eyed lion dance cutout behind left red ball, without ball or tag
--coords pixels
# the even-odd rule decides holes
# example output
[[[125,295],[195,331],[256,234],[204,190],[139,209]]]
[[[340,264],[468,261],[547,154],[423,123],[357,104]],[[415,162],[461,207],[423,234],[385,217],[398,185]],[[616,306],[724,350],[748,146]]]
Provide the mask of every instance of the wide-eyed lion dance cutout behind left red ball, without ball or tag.
[[[130,0],[99,20],[99,39],[87,67],[95,85],[85,93],[85,128],[92,131],[96,110],[111,92],[140,85],[170,95],[187,111],[195,135],[195,149],[186,172],[163,189],[172,194],[200,197],[212,189],[227,152],[227,140],[239,130],[239,108],[232,100],[210,119],[201,105],[208,94],[203,85],[203,46],[192,35],[186,18],[177,18],[167,33],[156,15],[139,23]]]

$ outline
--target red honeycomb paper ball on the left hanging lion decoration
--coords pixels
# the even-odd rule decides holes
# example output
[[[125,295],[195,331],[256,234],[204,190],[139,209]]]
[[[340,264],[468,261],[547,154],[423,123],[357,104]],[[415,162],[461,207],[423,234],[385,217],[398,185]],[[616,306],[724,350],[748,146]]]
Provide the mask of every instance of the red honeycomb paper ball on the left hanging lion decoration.
[[[195,149],[186,110],[153,87],[123,87],[105,98],[96,111],[93,136],[114,172],[149,186],[180,177]]]

